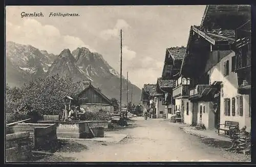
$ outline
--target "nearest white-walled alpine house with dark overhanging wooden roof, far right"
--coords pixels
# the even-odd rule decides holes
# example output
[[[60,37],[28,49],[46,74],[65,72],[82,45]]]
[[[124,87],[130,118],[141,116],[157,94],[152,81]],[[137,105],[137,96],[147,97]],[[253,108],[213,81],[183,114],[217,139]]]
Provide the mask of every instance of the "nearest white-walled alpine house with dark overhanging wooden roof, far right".
[[[191,26],[180,70],[190,79],[184,122],[215,129],[231,121],[250,131],[249,20],[249,6],[209,5],[201,26]]]

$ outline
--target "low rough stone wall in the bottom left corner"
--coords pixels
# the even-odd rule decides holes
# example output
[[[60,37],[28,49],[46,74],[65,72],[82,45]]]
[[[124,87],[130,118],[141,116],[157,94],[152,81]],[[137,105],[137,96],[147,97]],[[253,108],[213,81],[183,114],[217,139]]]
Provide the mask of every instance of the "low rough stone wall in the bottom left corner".
[[[6,162],[26,161],[32,157],[29,132],[6,134]]]

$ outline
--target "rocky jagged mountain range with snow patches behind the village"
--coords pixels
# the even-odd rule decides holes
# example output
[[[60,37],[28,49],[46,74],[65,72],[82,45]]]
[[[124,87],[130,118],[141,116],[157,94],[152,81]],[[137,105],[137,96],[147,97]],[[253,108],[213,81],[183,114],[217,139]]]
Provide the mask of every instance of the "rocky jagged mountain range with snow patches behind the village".
[[[34,78],[54,74],[69,76],[74,81],[89,79],[106,97],[120,99],[120,74],[99,53],[91,52],[86,47],[77,47],[72,52],[64,49],[59,55],[54,55],[31,45],[12,41],[6,43],[6,83],[9,86],[19,87]],[[133,103],[139,103],[140,88],[122,77],[123,104],[126,104],[127,83],[129,101],[133,89]]]

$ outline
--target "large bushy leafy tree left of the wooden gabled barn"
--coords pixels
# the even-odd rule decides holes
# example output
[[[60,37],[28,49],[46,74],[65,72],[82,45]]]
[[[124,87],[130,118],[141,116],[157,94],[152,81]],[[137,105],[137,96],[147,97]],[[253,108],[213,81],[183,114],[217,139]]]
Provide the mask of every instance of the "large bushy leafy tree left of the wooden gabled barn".
[[[82,84],[68,77],[54,75],[34,79],[20,89],[22,97],[14,110],[15,114],[61,114],[63,97],[67,95],[74,99],[74,103],[78,102],[77,95],[82,90]]]

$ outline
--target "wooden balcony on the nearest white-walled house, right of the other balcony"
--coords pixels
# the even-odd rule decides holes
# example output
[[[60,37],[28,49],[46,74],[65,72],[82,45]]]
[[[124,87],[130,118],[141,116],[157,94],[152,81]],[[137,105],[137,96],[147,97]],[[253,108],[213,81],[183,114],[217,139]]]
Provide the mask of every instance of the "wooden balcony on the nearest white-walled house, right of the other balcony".
[[[217,88],[212,85],[197,85],[189,91],[189,100],[211,101]]]

